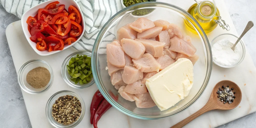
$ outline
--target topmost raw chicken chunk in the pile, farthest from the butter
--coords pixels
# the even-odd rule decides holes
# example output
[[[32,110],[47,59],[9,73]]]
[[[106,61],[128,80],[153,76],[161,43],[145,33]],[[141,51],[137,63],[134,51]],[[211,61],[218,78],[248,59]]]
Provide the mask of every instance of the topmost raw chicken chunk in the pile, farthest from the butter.
[[[130,24],[130,28],[142,33],[145,30],[155,27],[154,22],[147,18],[138,18],[133,23]]]

